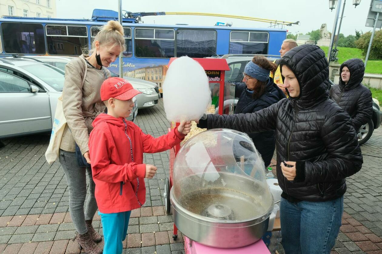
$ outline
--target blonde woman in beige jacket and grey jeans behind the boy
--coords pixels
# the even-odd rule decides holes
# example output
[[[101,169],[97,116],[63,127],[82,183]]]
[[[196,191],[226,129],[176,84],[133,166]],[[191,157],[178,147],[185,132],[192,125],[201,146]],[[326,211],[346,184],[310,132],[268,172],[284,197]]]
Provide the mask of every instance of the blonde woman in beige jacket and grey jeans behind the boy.
[[[90,164],[88,142],[93,128],[92,122],[105,111],[105,104],[100,97],[102,82],[110,77],[110,72],[105,67],[125,50],[123,27],[117,21],[109,21],[95,36],[90,56],[82,54],[65,67],[62,104],[67,126],[60,145],[59,160],[68,182],[69,211],[78,233],[78,245],[87,254],[102,253],[102,249],[95,244],[102,238],[92,227],[97,203],[91,167],[79,166],[76,145]],[[89,177],[89,196],[84,211],[86,173]]]

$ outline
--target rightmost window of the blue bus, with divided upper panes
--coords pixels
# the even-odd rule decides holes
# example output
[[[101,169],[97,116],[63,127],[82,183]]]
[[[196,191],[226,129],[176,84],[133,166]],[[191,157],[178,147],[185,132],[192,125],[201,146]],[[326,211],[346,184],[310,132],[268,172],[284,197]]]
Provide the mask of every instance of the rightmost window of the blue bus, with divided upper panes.
[[[267,32],[232,31],[230,35],[230,54],[267,54]]]

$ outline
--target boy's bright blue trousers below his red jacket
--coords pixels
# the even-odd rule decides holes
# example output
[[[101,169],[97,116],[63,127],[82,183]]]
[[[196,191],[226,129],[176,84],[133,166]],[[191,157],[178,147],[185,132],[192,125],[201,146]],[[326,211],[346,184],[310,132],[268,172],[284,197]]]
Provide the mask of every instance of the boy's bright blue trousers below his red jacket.
[[[102,228],[104,232],[103,254],[121,254],[122,242],[126,239],[127,227],[131,211],[116,213],[101,213]]]

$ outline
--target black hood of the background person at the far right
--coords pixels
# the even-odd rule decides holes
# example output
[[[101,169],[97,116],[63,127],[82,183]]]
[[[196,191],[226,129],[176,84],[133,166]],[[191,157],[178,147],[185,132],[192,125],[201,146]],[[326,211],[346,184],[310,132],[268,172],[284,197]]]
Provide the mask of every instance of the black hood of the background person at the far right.
[[[348,67],[348,69],[350,71],[350,79],[346,85],[345,85],[345,82],[342,81],[342,78],[341,78],[342,68],[344,66]],[[341,86],[341,88],[343,88],[345,86],[345,91],[356,88],[357,86],[359,86],[361,84],[364,74],[365,74],[365,65],[364,65],[363,61],[359,58],[349,59],[348,61],[341,64],[339,85]]]

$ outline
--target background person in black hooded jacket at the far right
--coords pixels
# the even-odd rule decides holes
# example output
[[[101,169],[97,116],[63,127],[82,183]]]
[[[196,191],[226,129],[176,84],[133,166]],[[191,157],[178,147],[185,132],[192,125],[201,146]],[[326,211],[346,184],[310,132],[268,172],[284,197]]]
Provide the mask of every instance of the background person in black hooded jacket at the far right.
[[[362,85],[365,65],[361,59],[352,58],[340,67],[340,82],[332,86],[329,97],[349,113],[356,132],[373,114],[371,91]]]

